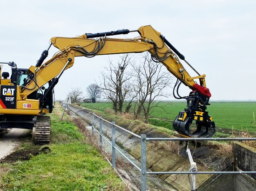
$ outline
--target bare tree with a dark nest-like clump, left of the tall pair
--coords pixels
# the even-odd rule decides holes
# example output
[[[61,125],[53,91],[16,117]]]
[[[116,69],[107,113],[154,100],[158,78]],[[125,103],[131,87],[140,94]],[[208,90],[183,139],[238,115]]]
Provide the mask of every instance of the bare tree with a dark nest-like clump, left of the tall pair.
[[[109,60],[109,66],[105,68],[107,73],[101,73],[101,89],[104,90],[105,98],[113,103],[115,113],[122,112],[123,104],[130,91],[127,66],[131,57],[128,54],[120,56],[117,64]]]

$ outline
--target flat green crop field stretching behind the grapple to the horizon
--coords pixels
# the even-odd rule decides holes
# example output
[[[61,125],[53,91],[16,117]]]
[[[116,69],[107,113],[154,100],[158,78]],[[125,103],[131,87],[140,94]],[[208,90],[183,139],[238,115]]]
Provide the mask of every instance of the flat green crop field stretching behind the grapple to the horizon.
[[[83,103],[83,107],[103,111],[112,108],[110,102]],[[154,107],[150,113],[150,123],[172,128],[172,121],[180,110],[186,108],[186,102],[162,102],[162,107]],[[234,128],[238,131],[256,132],[253,114],[256,113],[256,102],[211,102],[207,107],[209,115],[213,116],[216,127]],[[155,119],[157,118],[157,119]],[[166,119],[166,120],[162,120]]]

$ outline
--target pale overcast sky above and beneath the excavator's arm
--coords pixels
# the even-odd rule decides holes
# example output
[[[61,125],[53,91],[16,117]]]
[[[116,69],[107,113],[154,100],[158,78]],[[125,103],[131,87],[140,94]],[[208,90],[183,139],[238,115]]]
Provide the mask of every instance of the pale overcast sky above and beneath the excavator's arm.
[[[52,37],[152,25],[206,74],[211,100],[256,100],[256,0],[0,1],[0,62],[28,68]],[[57,51],[52,46],[47,59]],[[72,87],[85,93],[88,85],[99,81],[109,58],[115,61],[118,56],[76,58],[56,85],[55,99],[64,100]],[[4,65],[5,70],[10,67]],[[184,87],[181,94],[189,92]]]

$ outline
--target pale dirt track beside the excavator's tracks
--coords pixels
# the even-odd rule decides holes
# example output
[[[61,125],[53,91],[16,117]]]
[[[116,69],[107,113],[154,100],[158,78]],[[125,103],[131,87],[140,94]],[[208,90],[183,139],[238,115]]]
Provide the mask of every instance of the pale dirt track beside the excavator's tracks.
[[[8,129],[8,133],[0,137],[0,159],[5,158],[13,152],[13,149],[19,146],[24,140],[31,136],[31,130],[27,129]]]

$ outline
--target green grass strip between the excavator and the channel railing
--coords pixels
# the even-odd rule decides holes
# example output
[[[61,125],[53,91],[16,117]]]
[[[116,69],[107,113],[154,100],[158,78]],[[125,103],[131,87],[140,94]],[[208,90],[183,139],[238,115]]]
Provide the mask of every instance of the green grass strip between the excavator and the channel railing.
[[[121,179],[99,153],[87,143],[70,121],[60,121],[61,108],[51,114],[51,144],[47,152],[29,155],[29,160],[0,164],[0,190],[3,191],[123,191]],[[63,110],[62,110],[63,112]],[[33,153],[31,138],[15,153]]]

